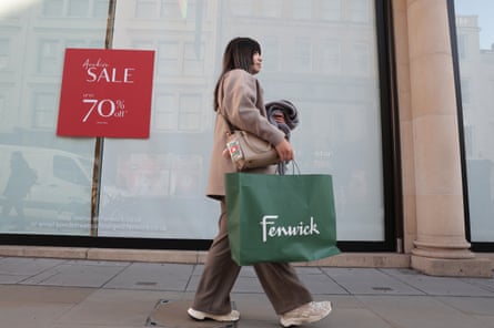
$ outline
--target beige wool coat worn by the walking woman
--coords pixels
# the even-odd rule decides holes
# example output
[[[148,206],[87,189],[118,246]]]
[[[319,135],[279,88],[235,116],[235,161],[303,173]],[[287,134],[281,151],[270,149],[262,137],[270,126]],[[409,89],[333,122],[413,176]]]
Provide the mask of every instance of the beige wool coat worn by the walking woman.
[[[249,131],[273,145],[279,144],[285,136],[266,119],[263,90],[258,79],[249,72],[238,69],[226,72],[220,83],[218,91],[219,109],[214,125],[213,151],[206,189],[206,195],[213,198],[221,198],[225,194],[225,173],[236,172],[232,161],[223,156],[229,125],[221,114],[228,117],[236,129]],[[271,165],[249,172],[272,174],[274,171],[275,165]]]

